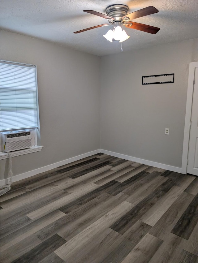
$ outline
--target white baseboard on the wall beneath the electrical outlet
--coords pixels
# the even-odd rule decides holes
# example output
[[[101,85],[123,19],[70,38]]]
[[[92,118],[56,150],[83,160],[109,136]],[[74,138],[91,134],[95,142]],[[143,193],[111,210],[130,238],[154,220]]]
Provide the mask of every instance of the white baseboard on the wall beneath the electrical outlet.
[[[159,163],[159,162],[152,162],[152,161],[148,161],[148,160],[132,157],[132,156],[125,155],[125,154],[110,152],[110,151],[103,150],[103,149],[100,149],[100,152],[108,154],[108,155],[111,155],[111,156],[115,156],[115,157],[118,157],[118,158],[122,158],[122,159],[125,159],[125,160],[138,162],[138,163],[142,163],[142,164],[145,164],[145,165],[149,165],[149,166],[153,166],[153,167],[157,167],[157,168],[162,168],[162,169],[173,171],[173,172],[177,172],[177,173],[182,173],[182,168],[180,168],[180,167],[166,165],[166,164]]]

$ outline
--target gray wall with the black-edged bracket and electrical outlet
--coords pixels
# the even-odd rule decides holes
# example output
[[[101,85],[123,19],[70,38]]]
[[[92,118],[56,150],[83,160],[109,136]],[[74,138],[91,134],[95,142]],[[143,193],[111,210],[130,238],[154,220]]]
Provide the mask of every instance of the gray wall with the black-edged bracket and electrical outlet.
[[[194,61],[198,39],[102,57],[101,149],[181,167]],[[174,84],[141,85],[142,76],[168,73],[175,74]]]

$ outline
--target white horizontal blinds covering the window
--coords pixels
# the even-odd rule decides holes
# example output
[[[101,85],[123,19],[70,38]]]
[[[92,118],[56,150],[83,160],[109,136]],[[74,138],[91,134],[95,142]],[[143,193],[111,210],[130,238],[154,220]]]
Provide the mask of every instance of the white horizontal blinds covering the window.
[[[0,62],[0,130],[37,128],[36,66]]]

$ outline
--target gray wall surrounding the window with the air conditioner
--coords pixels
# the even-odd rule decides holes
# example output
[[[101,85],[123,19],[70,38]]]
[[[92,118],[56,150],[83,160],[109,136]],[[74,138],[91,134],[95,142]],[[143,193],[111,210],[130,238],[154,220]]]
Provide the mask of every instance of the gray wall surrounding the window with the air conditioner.
[[[1,31],[1,59],[37,65],[44,148],[14,157],[13,175],[100,148],[100,57]]]

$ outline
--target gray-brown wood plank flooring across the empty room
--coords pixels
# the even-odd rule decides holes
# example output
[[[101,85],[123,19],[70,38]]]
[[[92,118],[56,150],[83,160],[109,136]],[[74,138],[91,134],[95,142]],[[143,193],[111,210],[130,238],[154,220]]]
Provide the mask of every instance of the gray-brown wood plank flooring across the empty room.
[[[1,262],[198,263],[198,177],[98,153],[1,196]]]

